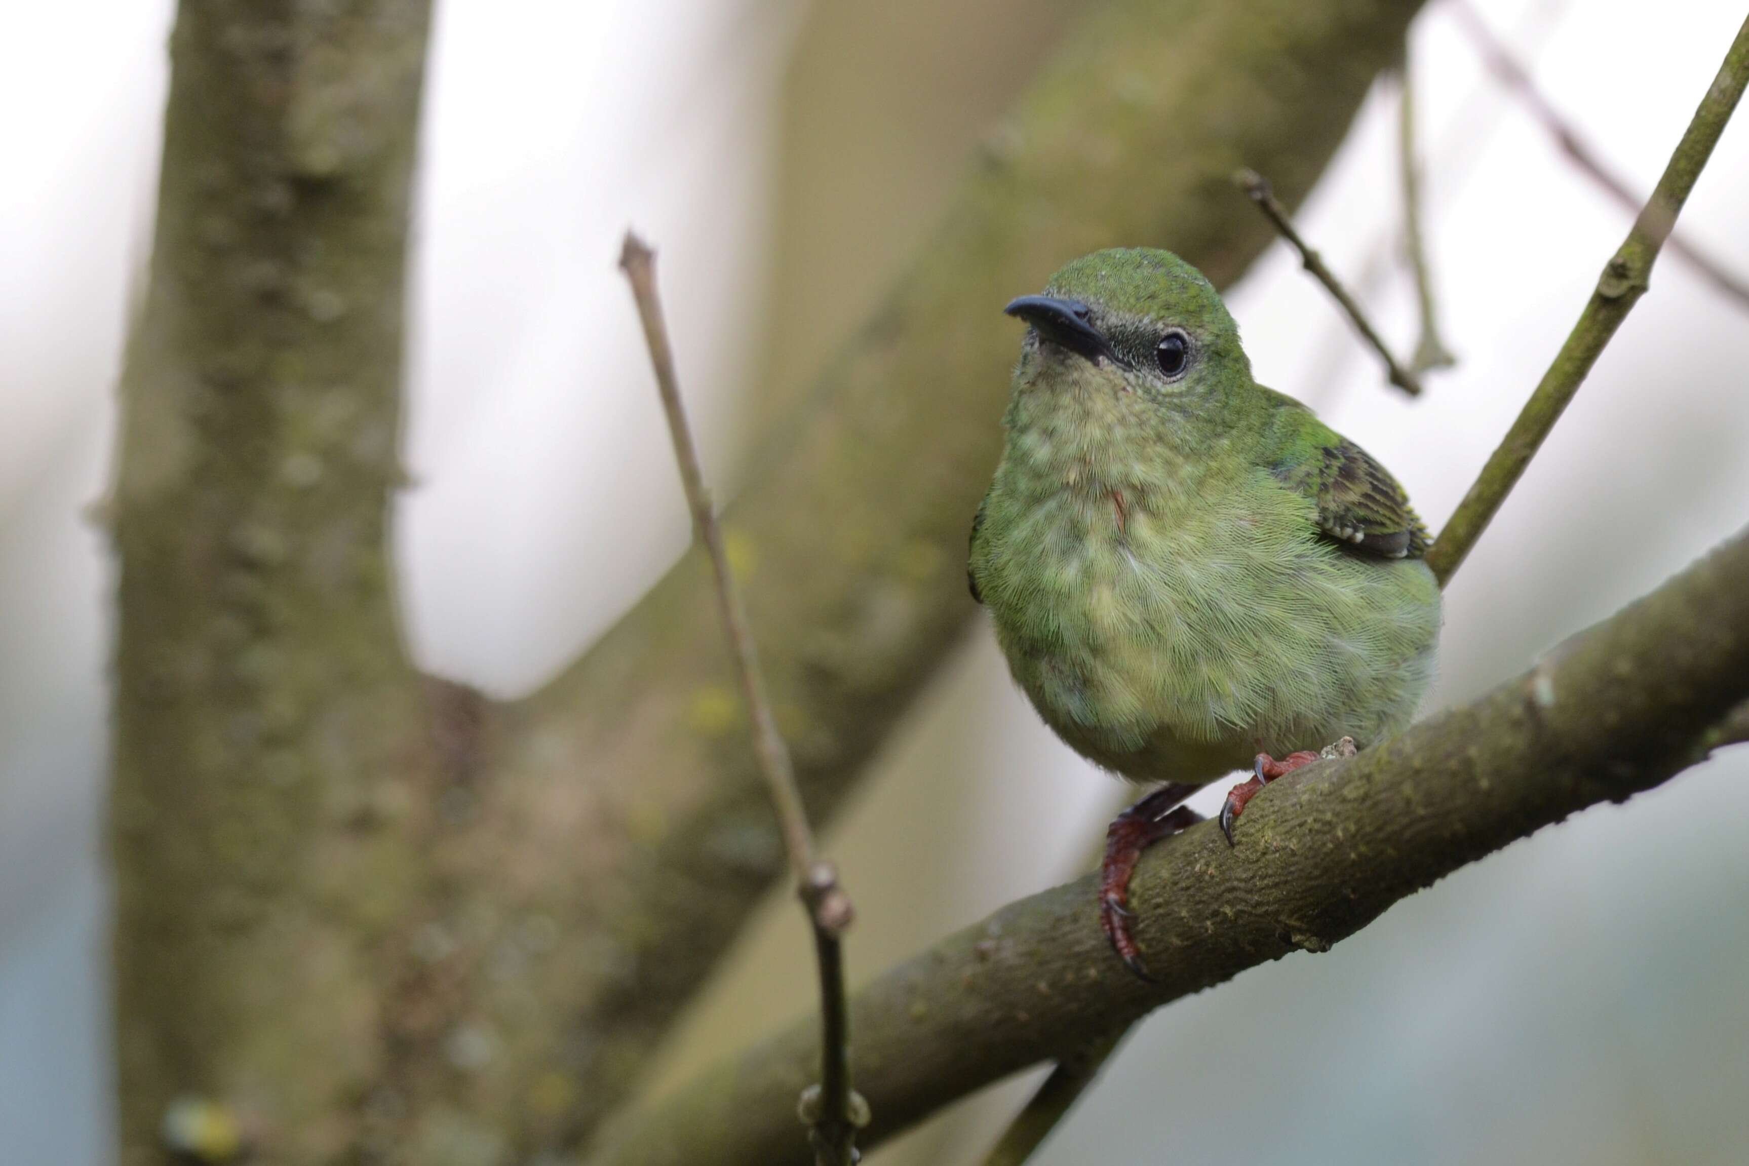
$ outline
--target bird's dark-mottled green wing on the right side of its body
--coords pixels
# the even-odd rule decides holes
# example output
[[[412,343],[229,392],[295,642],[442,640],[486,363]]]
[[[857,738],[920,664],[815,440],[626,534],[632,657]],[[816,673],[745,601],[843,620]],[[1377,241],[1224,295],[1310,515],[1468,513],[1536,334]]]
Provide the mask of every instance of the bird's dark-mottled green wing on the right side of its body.
[[[1319,533],[1355,554],[1422,558],[1432,538],[1390,470],[1300,402],[1280,400],[1268,468],[1317,503]]]

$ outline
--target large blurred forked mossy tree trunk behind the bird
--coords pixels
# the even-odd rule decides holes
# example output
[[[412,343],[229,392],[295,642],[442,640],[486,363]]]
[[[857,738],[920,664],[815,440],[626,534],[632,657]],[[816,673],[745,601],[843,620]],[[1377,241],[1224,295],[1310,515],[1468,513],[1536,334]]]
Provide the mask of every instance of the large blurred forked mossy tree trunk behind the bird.
[[[1417,0],[1112,0],[728,516],[810,811],[972,614],[1016,330],[1114,243],[1230,283]],[[395,467],[416,0],[196,3],[173,42],[114,521],[122,1128],[208,1096],[268,1163],[495,1163],[588,1135],[782,869],[701,559],[540,694],[404,663]]]

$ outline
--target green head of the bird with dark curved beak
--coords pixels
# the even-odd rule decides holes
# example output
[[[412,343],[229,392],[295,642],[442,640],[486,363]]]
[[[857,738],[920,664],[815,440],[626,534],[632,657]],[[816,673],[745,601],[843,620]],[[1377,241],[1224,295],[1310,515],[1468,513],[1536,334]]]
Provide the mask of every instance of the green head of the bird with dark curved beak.
[[[1195,407],[1251,383],[1238,325],[1196,267],[1146,246],[1112,248],[1063,266],[1042,295],[1007,315],[1030,323],[1021,371],[1042,388],[1107,386]]]

